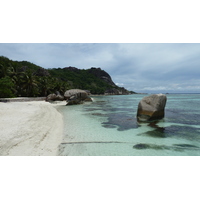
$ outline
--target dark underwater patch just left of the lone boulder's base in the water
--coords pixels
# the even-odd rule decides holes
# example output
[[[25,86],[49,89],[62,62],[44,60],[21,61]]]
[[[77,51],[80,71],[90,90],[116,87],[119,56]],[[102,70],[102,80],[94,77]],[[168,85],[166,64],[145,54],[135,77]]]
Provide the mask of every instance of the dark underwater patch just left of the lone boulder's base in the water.
[[[117,126],[118,131],[125,131],[133,128],[137,128],[137,121],[131,118],[130,115],[125,113],[111,113],[108,115],[108,121],[103,122],[102,126],[108,128],[107,126]]]

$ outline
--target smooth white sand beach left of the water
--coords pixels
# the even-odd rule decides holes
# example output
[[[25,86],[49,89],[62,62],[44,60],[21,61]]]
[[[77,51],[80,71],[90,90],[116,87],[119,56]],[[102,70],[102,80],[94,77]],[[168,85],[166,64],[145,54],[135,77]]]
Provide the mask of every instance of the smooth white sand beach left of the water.
[[[0,103],[1,156],[55,156],[63,117],[45,101]]]

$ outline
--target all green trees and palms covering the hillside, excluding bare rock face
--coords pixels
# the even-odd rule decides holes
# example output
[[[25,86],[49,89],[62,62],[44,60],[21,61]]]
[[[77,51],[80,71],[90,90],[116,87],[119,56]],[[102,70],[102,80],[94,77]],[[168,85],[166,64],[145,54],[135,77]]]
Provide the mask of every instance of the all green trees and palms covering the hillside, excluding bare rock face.
[[[59,91],[79,88],[92,94],[107,89],[123,89],[109,84],[89,70],[73,67],[44,69],[27,61],[12,61],[0,56],[0,97],[42,97]]]

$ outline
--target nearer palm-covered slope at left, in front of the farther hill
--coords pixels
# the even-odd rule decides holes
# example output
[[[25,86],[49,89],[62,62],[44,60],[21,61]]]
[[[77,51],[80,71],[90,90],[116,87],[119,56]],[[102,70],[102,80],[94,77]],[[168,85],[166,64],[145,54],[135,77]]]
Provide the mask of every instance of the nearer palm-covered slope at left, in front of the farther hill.
[[[0,97],[41,97],[55,91],[63,93],[69,84],[50,76],[48,70],[27,61],[0,57]]]

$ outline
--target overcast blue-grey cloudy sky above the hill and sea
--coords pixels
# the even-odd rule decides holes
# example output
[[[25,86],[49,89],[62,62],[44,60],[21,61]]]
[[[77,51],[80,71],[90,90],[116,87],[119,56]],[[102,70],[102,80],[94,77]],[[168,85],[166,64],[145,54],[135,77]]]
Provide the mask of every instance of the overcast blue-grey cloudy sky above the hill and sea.
[[[44,68],[100,67],[136,92],[200,92],[200,44],[1,43],[0,55]]]

